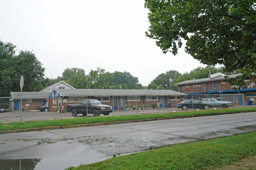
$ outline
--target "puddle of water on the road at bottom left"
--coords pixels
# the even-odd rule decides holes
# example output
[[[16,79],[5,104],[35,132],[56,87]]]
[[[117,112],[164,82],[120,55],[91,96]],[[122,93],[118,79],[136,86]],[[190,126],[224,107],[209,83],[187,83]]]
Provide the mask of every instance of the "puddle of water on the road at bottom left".
[[[70,166],[79,166],[104,161],[108,157],[98,159],[84,158],[44,158],[44,159],[0,159],[1,170],[64,170]]]

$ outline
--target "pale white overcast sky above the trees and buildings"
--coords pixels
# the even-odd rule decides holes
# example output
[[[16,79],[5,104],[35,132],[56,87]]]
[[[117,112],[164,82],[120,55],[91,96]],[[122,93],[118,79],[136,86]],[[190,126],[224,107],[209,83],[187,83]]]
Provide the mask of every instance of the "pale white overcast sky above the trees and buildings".
[[[144,0],[0,0],[0,40],[33,50],[49,78],[101,68],[128,71],[147,86],[169,70],[206,66],[184,49],[163,54],[145,37],[147,13]]]

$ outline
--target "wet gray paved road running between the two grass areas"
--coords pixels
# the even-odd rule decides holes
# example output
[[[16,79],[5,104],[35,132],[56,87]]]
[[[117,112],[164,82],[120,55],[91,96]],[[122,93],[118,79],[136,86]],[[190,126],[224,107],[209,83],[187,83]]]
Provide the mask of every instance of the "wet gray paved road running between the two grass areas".
[[[90,126],[42,132],[0,134],[0,159],[59,159],[72,165],[92,163],[113,154],[256,130],[256,112],[162,121]],[[57,159],[57,160],[56,160]],[[79,165],[79,164],[78,164]],[[72,166],[78,166],[72,165]]]

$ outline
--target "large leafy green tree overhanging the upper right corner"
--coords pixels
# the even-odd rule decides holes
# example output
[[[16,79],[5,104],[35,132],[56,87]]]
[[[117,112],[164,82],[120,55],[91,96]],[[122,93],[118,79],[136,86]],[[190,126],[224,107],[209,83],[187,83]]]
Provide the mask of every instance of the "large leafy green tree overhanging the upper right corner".
[[[146,35],[174,55],[186,40],[186,52],[208,66],[256,73],[255,0],[145,0],[150,27]]]

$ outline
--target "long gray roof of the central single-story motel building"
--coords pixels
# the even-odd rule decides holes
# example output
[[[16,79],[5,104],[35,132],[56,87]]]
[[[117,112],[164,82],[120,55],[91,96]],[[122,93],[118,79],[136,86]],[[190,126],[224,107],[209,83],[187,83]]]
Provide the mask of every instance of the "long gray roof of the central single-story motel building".
[[[61,96],[150,96],[150,95],[186,95],[173,90],[133,90],[133,89],[54,89]]]

